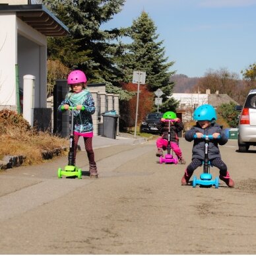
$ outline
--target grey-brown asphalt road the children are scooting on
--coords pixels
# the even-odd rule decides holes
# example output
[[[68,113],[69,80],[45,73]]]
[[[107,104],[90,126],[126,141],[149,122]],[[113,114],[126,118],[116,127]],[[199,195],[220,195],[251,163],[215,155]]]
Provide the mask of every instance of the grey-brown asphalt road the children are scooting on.
[[[159,164],[155,141],[112,143],[94,145],[98,179],[84,151],[82,179],[57,178],[67,157],[1,172],[1,254],[255,254],[255,147],[220,147],[236,187],[215,189],[181,186],[186,165]]]

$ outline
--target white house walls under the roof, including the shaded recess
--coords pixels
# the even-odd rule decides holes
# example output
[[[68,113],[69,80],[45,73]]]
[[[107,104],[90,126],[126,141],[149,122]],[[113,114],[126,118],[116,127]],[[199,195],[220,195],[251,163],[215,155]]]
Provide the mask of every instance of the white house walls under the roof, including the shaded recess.
[[[20,87],[23,88],[24,75],[34,75],[35,108],[46,108],[46,36],[16,18],[15,13],[1,13],[0,24],[0,107],[16,110],[15,65],[18,64]]]

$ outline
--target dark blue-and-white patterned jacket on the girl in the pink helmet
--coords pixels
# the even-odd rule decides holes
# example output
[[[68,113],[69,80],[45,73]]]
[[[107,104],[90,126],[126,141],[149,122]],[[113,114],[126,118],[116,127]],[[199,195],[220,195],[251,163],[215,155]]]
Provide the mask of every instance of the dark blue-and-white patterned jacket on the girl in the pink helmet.
[[[67,104],[71,107],[75,107],[76,105],[69,100],[69,94],[66,95],[65,100],[61,102],[58,107],[59,111],[61,110],[61,106]],[[94,99],[92,98],[92,94],[88,92],[84,99],[84,103],[82,104],[85,110],[74,110],[74,131],[77,133],[86,133],[93,131],[92,124],[92,114],[95,112]]]

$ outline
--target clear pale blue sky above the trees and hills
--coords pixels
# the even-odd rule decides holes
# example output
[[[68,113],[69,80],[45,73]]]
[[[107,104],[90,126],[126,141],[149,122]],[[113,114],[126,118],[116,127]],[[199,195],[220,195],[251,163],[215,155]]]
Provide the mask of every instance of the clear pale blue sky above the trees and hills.
[[[203,77],[224,68],[241,79],[256,62],[256,0],[126,0],[102,28],[131,26],[142,11],[176,74]]]

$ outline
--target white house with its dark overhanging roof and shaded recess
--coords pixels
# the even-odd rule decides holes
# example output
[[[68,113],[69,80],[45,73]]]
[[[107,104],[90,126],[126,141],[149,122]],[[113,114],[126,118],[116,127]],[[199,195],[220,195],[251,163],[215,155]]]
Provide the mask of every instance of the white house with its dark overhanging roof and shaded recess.
[[[44,5],[24,3],[0,0],[0,109],[18,111],[23,77],[32,75],[34,109],[42,119],[48,112],[47,37],[66,36],[69,30]]]

